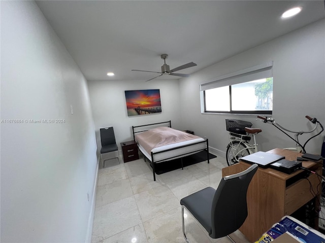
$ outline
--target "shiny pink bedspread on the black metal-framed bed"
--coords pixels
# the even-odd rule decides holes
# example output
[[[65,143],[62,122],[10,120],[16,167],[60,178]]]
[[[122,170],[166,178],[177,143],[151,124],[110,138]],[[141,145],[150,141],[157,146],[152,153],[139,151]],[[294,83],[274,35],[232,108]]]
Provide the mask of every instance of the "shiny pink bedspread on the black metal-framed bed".
[[[135,136],[136,141],[150,154],[153,148],[200,138],[168,127],[150,129]]]

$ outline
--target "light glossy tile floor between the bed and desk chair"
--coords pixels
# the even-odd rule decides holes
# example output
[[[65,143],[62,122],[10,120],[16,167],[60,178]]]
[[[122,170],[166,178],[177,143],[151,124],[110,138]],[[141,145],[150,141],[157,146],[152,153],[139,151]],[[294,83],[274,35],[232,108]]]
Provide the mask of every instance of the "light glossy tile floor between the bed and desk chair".
[[[99,171],[92,243],[185,242],[180,199],[207,186],[217,188],[226,166],[218,156],[210,164],[203,161],[156,175],[153,181],[151,167],[141,157],[115,166],[111,161]],[[192,243],[231,242],[227,237],[210,238],[191,216],[185,218],[185,230]],[[238,243],[249,242],[240,231],[231,236]]]

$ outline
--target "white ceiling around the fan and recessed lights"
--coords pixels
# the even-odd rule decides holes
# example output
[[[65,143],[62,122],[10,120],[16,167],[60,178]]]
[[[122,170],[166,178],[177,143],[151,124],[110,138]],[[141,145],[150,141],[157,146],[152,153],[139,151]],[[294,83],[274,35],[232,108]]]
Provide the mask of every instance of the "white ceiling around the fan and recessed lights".
[[[147,80],[188,62],[193,73],[325,17],[324,1],[37,1],[87,80]],[[281,14],[295,6],[302,12]],[[114,77],[107,72],[115,73]],[[177,76],[154,80],[177,79]]]

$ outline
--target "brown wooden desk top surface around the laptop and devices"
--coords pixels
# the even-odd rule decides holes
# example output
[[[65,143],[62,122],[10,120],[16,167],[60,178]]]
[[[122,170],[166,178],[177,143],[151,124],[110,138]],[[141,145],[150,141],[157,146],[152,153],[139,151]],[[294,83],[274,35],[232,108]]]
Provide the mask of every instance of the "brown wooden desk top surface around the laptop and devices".
[[[300,157],[302,155],[302,153],[298,153],[296,151],[285,150],[285,149],[281,149],[281,148],[274,148],[267,152],[283,155],[283,156],[285,156],[285,159],[287,159],[287,160],[297,160],[297,157]],[[247,165],[247,166],[251,166],[249,163],[246,163],[244,161],[240,161],[240,163]],[[310,169],[310,168],[317,169],[318,167],[322,167],[322,160],[319,160],[316,162],[310,161],[310,160],[302,161],[302,166],[305,168],[308,168],[308,169]],[[263,173],[268,173],[269,175],[273,175],[281,180],[287,180],[287,179],[294,177],[302,172],[302,170],[298,170],[294,173],[286,174],[286,173],[274,170],[272,168],[261,168],[261,167],[259,167],[258,170]]]

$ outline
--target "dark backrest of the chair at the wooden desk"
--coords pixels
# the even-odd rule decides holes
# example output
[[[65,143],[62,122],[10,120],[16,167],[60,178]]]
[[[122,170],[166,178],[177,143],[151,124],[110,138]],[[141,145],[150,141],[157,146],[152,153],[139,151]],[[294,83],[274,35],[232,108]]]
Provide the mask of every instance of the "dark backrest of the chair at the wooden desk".
[[[235,232],[246,220],[247,189],[257,167],[254,164],[243,172],[221,179],[212,201],[212,238]]]

